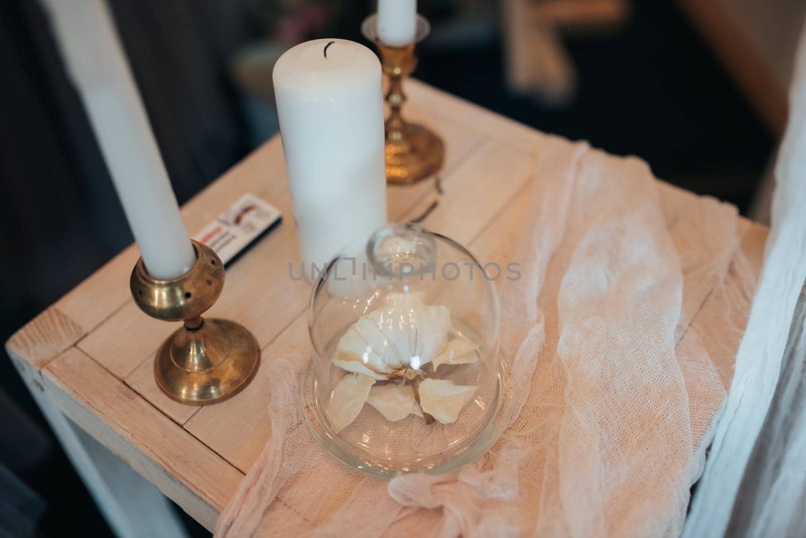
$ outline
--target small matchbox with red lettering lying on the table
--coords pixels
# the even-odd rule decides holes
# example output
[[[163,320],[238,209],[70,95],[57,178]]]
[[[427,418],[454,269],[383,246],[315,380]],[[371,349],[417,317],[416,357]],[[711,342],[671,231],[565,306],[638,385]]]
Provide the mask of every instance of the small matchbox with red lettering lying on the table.
[[[247,193],[193,239],[210,246],[226,265],[278,221],[279,209]]]

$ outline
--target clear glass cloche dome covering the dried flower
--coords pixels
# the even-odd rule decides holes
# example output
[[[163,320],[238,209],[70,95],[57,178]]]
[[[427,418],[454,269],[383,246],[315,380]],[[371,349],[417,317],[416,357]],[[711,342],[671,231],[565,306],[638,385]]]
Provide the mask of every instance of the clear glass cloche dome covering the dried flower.
[[[313,366],[303,387],[314,436],[381,477],[455,470],[501,435],[511,387],[498,301],[473,255],[393,224],[347,247],[314,282]]]

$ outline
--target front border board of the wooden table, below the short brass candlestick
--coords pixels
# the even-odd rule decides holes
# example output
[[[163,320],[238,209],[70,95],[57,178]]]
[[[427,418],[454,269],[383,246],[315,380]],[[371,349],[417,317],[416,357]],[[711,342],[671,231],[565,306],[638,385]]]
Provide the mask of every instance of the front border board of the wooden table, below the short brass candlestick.
[[[208,529],[243,474],[81,351],[43,370],[61,412]],[[143,514],[147,517],[147,514]]]

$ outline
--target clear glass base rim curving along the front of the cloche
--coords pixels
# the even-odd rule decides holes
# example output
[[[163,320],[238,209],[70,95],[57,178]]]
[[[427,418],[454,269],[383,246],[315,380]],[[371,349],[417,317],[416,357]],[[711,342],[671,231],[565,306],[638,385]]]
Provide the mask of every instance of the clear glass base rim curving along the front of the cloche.
[[[496,387],[489,401],[488,414],[475,432],[460,442],[434,447],[421,453],[393,453],[388,445],[373,446],[367,442],[351,442],[334,432],[319,398],[314,366],[305,375],[301,390],[301,405],[305,422],[324,449],[348,467],[376,478],[394,478],[400,474],[442,474],[458,470],[475,461],[501,437],[512,410],[513,387],[509,368],[499,361]]]

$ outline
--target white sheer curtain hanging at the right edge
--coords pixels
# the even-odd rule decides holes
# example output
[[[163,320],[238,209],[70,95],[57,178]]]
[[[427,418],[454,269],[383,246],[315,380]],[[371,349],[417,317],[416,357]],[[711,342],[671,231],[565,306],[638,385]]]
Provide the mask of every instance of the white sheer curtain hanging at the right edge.
[[[772,228],[725,412],[683,536],[806,532],[806,39],[775,166]]]

